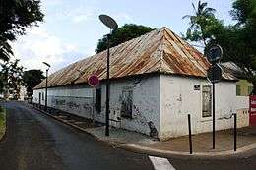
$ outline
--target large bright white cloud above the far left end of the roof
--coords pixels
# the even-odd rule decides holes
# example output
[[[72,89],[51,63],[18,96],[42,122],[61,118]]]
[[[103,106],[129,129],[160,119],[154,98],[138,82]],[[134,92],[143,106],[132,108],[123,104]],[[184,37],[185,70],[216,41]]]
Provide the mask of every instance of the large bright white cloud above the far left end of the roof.
[[[53,66],[52,71],[59,69],[61,63],[68,63],[70,61],[67,60],[72,60],[64,56],[75,54],[78,51],[76,45],[63,43],[60,38],[41,28],[31,29],[26,36],[12,43],[12,46],[15,57],[21,59],[25,68],[44,70],[42,62],[46,61]]]

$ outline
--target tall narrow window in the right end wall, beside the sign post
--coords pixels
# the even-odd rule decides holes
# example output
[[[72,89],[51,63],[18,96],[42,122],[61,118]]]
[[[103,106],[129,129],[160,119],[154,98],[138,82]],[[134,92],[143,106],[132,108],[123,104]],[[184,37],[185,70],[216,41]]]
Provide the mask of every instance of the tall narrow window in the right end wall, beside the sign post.
[[[211,85],[202,86],[202,116],[211,117],[212,116],[212,94]]]

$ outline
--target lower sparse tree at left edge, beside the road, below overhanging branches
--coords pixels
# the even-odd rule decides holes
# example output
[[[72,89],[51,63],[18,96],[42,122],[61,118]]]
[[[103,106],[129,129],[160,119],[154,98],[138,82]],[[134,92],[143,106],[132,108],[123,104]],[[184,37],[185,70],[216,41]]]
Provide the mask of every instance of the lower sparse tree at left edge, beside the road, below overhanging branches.
[[[1,78],[3,84],[3,91],[5,97],[8,97],[9,92],[13,94],[14,99],[20,97],[21,85],[23,85],[23,70],[24,68],[19,65],[20,60],[8,61],[1,64]]]

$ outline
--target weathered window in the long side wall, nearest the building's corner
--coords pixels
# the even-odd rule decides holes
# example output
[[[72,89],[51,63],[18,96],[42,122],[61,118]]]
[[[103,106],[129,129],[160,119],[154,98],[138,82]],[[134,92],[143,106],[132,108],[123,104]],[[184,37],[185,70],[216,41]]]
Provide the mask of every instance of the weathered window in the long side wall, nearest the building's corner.
[[[121,100],[121,116],[132,118],[133,108],[133,90],[132,88],[124,88]]]

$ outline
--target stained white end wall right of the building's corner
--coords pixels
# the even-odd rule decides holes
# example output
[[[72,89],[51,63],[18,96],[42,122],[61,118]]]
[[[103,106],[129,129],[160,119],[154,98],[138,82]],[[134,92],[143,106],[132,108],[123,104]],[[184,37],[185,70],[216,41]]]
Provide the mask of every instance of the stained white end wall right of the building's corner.
[[[194,90],[194,85],[200,85],[200,90]],[[193,134],[212,131],[212,117],[202,117],[202,85],[211,84],[204,79],[160,75],[161,140],[187,135],[187,114],[191,114]],[[231,128],[230,115],[247,107],[246,98],[236,97],[235,82],[216,84],[216,130]]]

